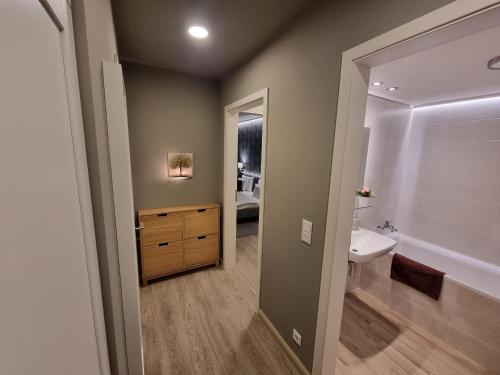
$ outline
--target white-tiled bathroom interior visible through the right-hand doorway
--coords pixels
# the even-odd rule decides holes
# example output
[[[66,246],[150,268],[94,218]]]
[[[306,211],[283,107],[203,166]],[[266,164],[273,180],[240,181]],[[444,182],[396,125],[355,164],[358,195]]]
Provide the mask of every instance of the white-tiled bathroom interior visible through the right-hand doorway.
[[[350,263],[337,365],[368,371],[412,327],[432,343],[413,359],[418,368],[500,373],[499,38],[500,27],[485,27],[371,69],[352,238],[361,228],[395,245]],[[437,298],[391,278],[394,254],[444,273]],[[380,350],[351,342],[349,319],[363,309],[391,331]],[[487,372],[452,371],[443,357],[445,367],[432,367],[442,348]]]

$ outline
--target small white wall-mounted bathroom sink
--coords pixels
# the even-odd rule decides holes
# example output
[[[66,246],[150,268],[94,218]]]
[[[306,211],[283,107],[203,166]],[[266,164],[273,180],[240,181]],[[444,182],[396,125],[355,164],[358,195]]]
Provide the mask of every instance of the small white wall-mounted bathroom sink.
[[[354,263],[365,263],[387,254],[396,246],[396,241],[381,234],[359,228],[351,232],[349,260]]]

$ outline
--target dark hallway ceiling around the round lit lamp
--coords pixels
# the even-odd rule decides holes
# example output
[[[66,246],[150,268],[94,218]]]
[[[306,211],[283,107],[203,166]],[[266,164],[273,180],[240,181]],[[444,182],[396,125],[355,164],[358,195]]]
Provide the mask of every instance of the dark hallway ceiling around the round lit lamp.
[[[246,62],[315,0],[113,0],[122,60],[221,78]],[[205,26],[207,39],[187,34]]]

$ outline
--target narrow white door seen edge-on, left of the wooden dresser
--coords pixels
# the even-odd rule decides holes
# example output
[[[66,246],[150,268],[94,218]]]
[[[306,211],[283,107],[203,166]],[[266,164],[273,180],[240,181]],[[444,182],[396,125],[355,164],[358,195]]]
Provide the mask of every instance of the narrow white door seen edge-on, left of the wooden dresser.
[[[127,104],[120,64],[102,62],[109,160],[113,184],[116,241],[120,265],[123,324],[129,374],[143,374],[139,298],[139,267],[135,236],[134,197],[128,135]]]

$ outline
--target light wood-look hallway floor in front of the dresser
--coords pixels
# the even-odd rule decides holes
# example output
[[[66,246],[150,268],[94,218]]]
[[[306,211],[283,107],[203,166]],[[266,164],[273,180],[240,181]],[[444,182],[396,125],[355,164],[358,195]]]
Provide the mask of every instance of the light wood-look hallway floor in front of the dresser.
[[[237,240],[237,266],[141,288],[146,375],[298,375],[256,313],[257,236]]]

